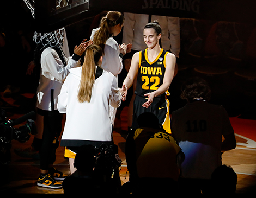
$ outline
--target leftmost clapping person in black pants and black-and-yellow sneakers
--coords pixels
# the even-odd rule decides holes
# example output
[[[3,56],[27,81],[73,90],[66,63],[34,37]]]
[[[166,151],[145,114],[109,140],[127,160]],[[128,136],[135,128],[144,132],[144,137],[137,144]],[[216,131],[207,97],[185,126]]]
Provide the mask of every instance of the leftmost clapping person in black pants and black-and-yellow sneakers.
[[[70,68],[79,65],[78,60],[80,60],[80,56],[90,43],[83,40],[79,46],[74,48],[74,55],[67,58],[60,48],[63,37],[64,28],[52,33],[39,34],[38,39],[40,42],[35,49],[35,66],[40,72],[38,73],[39,84],[36,93],[36,111],[42,118],[40,121],[42,121],[43,130],[39,151],[40,176],[38,177],[37,185],[46,188],[62,188],[61,183],[56,182],[54,178],[64,180],[67,176],[53,167],[63,120],[63,114],[59,113],[57,109],[57,96],[60,93],[63,80],[70,73]]]

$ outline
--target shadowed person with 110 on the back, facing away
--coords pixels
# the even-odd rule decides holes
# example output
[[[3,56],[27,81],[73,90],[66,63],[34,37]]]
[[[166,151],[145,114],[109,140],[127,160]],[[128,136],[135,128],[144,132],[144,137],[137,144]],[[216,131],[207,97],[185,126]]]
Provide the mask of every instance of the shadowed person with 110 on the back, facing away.
[[[181,98],[188,103],[172,112],[172,135],[185,154],[179,182],[182,193],[209,193],[211,174],[222,164],[222,152],[236,147],[227,111],[208,103],[210,97],[205,80],[188,79],[181,88]]]

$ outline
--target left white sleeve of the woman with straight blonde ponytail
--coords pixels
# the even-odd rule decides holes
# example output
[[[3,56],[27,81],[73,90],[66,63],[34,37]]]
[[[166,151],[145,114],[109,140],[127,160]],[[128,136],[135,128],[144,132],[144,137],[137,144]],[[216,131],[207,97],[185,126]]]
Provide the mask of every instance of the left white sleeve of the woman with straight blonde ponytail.
[[[66,113],[66,105],[68,104],[68,81],[65,80],[62,89],[58,95],[57,108],[60,113]]]

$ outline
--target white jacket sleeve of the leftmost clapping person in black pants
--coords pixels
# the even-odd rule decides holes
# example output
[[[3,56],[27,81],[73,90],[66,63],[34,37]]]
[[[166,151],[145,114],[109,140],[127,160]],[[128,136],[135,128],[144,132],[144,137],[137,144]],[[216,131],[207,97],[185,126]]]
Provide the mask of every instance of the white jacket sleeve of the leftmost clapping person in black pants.
[[[62,60],[60,60],[57,52],[54,49],[41,58],[42,75],[51,80],[56,79],[63,82],[69,74],[69,69],[77,66],[77,61],[69,59],[67,65],[64,67]]]

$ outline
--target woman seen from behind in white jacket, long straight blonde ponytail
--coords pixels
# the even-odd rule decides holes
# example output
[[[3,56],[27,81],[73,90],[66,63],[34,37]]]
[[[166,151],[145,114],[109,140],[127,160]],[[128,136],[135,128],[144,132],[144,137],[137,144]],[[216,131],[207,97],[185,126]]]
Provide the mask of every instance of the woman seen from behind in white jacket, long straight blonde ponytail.
[[[113,143],[109,106],[120,105],[121,89],[117,87],[117,76],[100,67],[102,55],[101,47],[89,46],[83,66],[70,69],[58,95],[58,110],[66,113],[60,145],[66,148],[71,174],[76,171],[73,164],[80,146],[91,144],[99,148]]]

